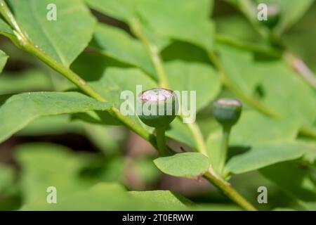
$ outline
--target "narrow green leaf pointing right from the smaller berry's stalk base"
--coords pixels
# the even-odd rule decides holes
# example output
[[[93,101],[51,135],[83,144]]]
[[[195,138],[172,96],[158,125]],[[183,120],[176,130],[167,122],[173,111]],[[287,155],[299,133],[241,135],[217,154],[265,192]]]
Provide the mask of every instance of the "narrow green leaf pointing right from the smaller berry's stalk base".
[[[233,174],[242,174],[261,169],[277,162],[284,162],[301,158],[310,148],[301,143],[271,143],[253,146],[246,153],[233,156],[226,164],[226,168]]]

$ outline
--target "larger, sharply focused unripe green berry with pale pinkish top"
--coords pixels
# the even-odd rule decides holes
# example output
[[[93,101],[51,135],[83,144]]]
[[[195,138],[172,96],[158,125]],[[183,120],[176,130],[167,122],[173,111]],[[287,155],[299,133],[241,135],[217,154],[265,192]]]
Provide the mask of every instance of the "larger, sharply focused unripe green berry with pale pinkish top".
[[[142,110],[140,120],[150,127],[167,127],[178,113],[178,97],[168,89],[155,88],[143,91],[138,96]]]

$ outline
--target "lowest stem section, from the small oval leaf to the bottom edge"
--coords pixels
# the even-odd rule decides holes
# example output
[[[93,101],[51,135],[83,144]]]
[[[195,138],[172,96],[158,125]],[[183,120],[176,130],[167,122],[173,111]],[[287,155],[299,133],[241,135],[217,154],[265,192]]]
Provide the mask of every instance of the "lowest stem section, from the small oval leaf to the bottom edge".
[[[206,172],[204,174],[204,178],[220,189],[220,191],[223,191],[228,198],[237,203],[237,205],[242,207],[244,210],[256,211],[256,208],[244,197],[242,197],[242,195],[240,195],[234,188],[232,188],[230,184],[223,182],[221,179],[218,179],[218,177],[213,176],[210,172]]]

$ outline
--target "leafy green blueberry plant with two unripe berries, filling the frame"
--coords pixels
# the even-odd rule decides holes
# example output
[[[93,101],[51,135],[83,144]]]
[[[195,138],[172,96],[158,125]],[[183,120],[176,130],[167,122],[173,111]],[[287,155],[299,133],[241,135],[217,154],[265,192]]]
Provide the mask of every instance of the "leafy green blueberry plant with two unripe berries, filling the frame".
[[[260,3],[271,20],[258,20]],[[316,210],[315,12],[313,0],[0,0],[0,153],[13,135],[65,133],[100,150],[16,146],[18,172],[0,165],[0,209]],[[137,85],[138,101],[160,91],[175,105],[170,90],[196,91],[197,120],[124,115],[121,92]],[[153,160],[124,160],[126,130]],[[216,191],[135,191],[126,170]]]

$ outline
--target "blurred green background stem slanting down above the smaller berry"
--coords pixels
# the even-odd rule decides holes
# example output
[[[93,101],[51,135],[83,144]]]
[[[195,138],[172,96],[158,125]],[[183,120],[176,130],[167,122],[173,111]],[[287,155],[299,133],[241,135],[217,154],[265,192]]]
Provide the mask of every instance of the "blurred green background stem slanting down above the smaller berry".
[[[257,110],[261,111],[261,113],[264,113],[265,115],[268,115],[269,117],[279,118],[279,115],[275,113],[273,110],[270,110],[267,106],[263,105],[261,102],[256,101],[256,99],[252,98],[251,96],[247,96],[244,94],[242,90],[240,90],[228,77],[226,74],[226,70],[223,67],[223,65],[220,63],[220,60],[216,56],[215,53],[209,52],[208,53],[209,59],[211,62],[216,66],[218,71],[220,72],[220,77],[222,79],[223,84],[232,91],[236,96],[242,99],[245,103],[248,103],[249,105],[252,105]]]

